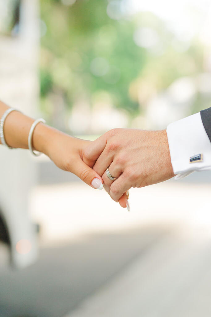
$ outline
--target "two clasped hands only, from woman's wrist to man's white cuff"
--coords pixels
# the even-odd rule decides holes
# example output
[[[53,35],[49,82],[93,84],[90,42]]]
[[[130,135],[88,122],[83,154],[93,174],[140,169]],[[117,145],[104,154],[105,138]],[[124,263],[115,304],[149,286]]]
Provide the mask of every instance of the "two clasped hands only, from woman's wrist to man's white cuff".
[[[104,187],[128,211],[131,187],[156,184],[174,176],[166,130],[117,128],[93,142],[67,135],[65,138],[63,133],[52,138],[51,150],[46,154],[58,167],[94,188]]]

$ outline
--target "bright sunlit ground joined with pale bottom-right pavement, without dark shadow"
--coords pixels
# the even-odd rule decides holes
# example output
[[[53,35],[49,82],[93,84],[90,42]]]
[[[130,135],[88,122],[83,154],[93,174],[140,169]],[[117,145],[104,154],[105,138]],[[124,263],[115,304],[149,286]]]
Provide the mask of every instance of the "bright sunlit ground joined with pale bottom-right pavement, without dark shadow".
[[[83,184],[41,186],[35,192],[34,208],[39,204],[45,210],[45,215],[40,210],[36,217],[45,225],[47,245],[67,236],[77,240],[90,232],[143,230],[153,225],[155,230],[159,226],[170,230],[65,317],[210,316],[210,182],[171,181],[132,189],[130,213],[105,192]],[[50,192],[49,205],[45,199]],[[58,204],[64,219],[54,212]]]

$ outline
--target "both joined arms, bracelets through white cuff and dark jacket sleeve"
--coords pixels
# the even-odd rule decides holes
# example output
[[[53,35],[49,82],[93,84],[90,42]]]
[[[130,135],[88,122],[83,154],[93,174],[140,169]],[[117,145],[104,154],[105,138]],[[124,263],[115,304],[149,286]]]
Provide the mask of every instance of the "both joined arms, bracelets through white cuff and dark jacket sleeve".
[[[167,130],[113,129],[94,142],[73,138],[44,122],[0,101],[0,144],[46,154],[91,187],[104,187],[128,210],[131,187],[211,170],[211,108],[173,122]]]

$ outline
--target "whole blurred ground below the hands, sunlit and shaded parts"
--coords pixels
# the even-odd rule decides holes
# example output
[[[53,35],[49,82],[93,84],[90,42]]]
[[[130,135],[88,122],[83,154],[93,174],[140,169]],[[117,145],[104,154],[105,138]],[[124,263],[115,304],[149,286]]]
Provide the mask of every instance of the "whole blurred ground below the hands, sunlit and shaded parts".
[[[0,316],[210,317],[210,193],[210,179],[132,189],[128,213],[80,182],[38,186],[40,258],[1,268]]]

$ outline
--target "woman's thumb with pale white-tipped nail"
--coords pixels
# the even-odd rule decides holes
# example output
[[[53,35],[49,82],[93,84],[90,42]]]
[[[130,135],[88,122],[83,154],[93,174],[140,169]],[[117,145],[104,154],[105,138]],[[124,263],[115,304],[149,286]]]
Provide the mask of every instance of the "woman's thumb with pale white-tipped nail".
[[[102,178],[96,171],[87,166],[81,158],[72,167],[72,172],[81,178],[86,184],[96,189],[103,189]]]

